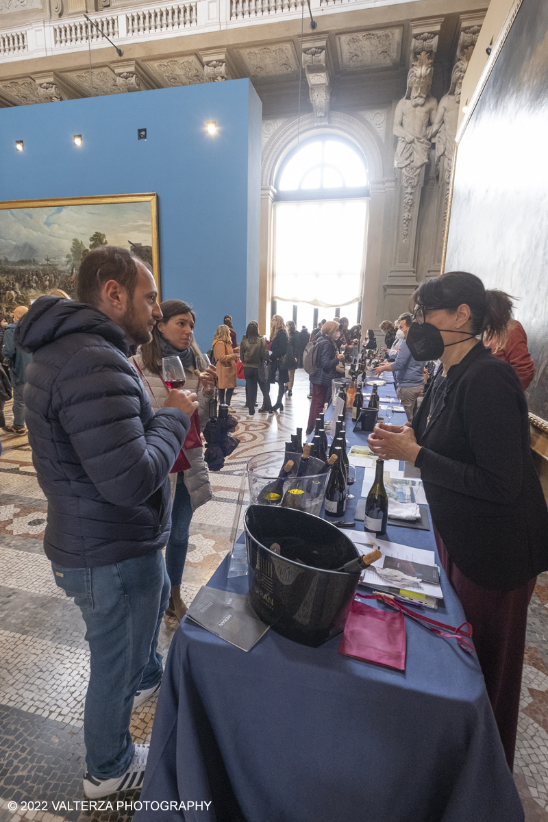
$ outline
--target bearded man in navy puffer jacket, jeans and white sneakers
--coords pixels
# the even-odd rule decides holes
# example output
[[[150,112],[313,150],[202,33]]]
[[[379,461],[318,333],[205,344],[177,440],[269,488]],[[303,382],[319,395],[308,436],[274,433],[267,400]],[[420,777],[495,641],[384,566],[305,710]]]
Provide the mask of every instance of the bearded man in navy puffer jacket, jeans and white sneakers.
[[[169,580],[168,472],[197,407],[170,392],[154,415],[128,344],[161,319],[154,278],[122,248],[94,249],[73,302],[39,298],[16,344],[33,354],[25,406],[40,487],[48,499],[44,550],[58,586],[86,623],[86,796],[139,787],[148,746],[135,746],[131,709],[159,690],[159,627]]]

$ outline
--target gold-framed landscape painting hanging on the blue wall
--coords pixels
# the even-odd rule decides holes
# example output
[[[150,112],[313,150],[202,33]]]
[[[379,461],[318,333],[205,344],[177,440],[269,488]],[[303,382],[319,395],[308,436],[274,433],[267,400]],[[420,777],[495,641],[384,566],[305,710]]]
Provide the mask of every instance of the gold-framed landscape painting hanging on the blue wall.
[[[127,248],[152,270],[159,292],[158,196],[121,194],[0,202],[0,316],[52,289],[76,297],[82,258]]]

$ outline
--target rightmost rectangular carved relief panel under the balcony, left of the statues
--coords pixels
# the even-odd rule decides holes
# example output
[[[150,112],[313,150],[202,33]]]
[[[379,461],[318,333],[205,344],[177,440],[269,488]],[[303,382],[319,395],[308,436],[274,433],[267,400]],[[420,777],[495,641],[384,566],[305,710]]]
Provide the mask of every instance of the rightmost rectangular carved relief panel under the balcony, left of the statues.
[[[394,66],[402,51],[402,29],[358,31],[337,37],[338,62],[345,72]]]

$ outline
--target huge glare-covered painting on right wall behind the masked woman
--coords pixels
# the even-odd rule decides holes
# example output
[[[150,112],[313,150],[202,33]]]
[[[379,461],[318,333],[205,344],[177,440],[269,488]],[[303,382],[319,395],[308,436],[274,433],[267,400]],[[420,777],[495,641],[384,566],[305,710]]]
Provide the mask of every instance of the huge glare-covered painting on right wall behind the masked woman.
[[[445,270],[472,271],[518,298],[536,365],[529,409],[548,419],[546,0],[518,7],[458,141]]]

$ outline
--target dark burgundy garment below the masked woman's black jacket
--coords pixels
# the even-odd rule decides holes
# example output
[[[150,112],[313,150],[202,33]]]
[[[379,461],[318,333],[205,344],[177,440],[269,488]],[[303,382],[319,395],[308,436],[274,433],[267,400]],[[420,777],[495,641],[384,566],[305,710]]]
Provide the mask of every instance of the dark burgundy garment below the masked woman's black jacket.
[[[460,599],[467,621],[472,625],[472,640],[499,727],[506,761],[512,770],[518,732],[527,607],[536,577],[513,591],[481,588],[458,570],[436,529],[434,534],[440,562]]]

